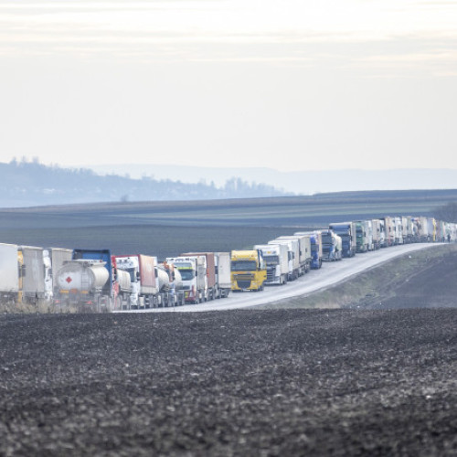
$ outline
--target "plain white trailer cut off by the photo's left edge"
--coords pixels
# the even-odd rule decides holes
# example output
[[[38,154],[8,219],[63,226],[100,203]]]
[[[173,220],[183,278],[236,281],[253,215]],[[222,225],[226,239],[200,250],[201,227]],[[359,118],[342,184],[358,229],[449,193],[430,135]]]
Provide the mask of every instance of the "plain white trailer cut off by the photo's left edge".
[[[0,303],[16,303],[18,292],[17,245],[0,243]]]

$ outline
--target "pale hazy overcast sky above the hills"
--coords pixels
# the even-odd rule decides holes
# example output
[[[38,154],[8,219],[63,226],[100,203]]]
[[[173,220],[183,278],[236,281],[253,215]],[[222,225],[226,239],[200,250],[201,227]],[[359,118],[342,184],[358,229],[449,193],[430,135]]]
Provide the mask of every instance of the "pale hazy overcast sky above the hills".
[[[457,168],[457,1],[0,0],[0,160]]]

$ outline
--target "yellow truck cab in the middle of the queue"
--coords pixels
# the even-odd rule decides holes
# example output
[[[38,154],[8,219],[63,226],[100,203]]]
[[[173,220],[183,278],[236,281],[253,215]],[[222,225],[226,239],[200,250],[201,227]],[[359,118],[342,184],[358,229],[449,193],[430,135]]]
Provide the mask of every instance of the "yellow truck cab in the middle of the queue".
[[[267,267],[260,250],[231,251],[231,290],[262,291]]]

